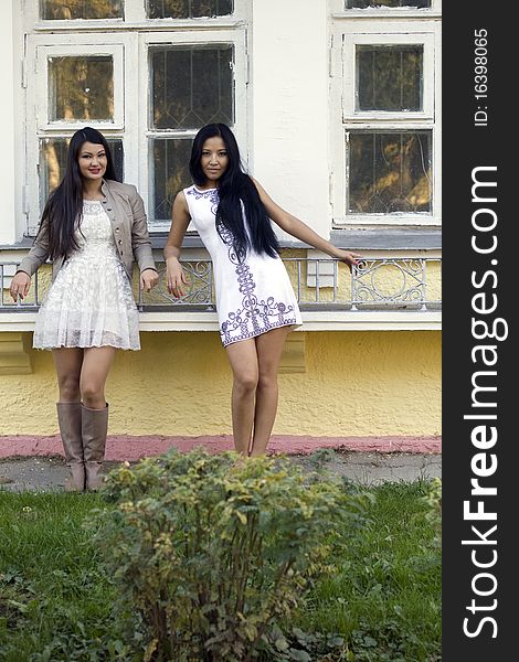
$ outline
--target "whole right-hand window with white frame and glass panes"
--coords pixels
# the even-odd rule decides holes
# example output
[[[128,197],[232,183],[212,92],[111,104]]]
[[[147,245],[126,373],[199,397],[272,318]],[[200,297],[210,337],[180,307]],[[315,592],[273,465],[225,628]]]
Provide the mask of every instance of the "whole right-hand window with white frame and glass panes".
[[[433,11],[424,19],[433,4],[347,0],[333,14],[336,227],[441,222],[439,22]]]

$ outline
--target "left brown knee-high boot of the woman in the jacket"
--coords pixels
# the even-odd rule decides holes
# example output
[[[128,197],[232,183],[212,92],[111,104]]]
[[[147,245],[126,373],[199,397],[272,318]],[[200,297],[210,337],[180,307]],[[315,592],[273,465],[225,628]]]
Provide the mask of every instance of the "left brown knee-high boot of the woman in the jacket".
[[[57,423],[65,459],[71,476],[65,482],[67,492],[85,489],[85,463],[83,458],[81,403],[56,403]]]

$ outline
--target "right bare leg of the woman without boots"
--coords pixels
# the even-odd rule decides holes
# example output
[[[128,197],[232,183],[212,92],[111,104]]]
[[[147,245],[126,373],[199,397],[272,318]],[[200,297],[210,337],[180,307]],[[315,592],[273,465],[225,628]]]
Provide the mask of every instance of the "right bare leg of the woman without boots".
[[[266,452],[277,413],[277,371],[289,327],[279,327],[256,338],[258,382],[251,457]]]

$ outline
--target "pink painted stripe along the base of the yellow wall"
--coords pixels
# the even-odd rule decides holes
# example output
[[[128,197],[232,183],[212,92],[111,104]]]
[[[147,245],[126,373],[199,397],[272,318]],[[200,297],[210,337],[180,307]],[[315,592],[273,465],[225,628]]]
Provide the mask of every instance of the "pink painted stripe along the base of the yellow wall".
[[[148,456],[166,452],[174,447],[189,451],[203,446],[211,452],[232,450],[233,440],[230,435],[202,437],[162,437],[129,435],[109,436],[106,442],[106,459],[116,461],[139,460]],[[441,437],[308,437],[278,435],[271,439],[271,451],[288,455],[309,453],[318,448],[363,452],[442,452]],[[57,435],[44,436],[0,436],[0,458],[17,456],[52,456],[63,455],[63,447]]]

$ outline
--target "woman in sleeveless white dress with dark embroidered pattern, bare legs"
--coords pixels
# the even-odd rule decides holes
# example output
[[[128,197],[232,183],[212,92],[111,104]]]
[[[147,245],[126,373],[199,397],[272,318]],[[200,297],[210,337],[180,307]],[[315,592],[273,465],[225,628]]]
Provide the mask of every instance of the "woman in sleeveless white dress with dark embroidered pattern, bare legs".
[[[220,335],[233,371],[234,447],[244,456],[261,456],[276,417],[283,345],[290,329],[301,324],[271,220],[350,268],[360,256],[336,248],[243,172],[226,125],[208,125],[197,134],[189,167],[193,185],[174,199],[165,247],[168,290],[184,293],[179,257],[192,221],[213,263]]]

